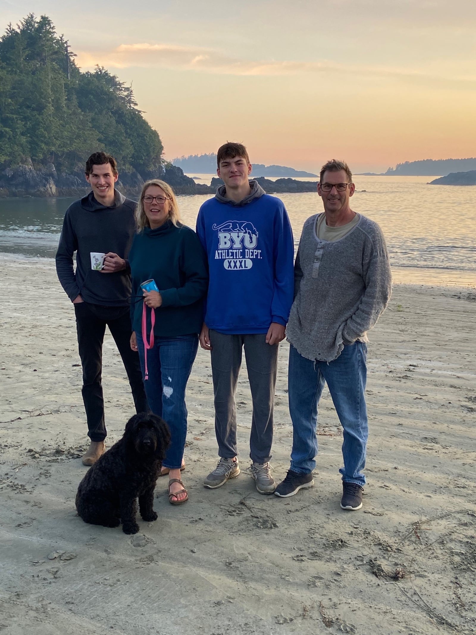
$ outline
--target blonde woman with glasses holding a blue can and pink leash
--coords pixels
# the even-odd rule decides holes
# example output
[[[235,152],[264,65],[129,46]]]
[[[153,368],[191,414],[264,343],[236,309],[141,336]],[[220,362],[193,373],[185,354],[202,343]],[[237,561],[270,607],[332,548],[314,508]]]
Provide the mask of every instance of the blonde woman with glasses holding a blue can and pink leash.
[[[169,474],[169,502],[180,505],[188,500],[180,479],[187,436],[185,387],[203,321],[206,256],[195,232],[182,224],[172,188],[161,180],[143,185],[136,225],[129,253],[131,349],[139,352],[150,409],[171,431],[162,473]]]

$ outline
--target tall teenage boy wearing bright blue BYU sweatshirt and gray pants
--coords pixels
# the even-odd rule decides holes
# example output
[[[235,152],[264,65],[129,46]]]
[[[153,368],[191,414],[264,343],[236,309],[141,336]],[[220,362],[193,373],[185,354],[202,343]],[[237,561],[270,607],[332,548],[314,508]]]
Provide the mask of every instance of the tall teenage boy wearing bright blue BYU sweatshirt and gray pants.
[[[282,201],[248,180],[251,164],[244,145],[222,145],[216,161],[225,185],[201,206],[197,218],[209,265],[200,344],[211,351],[220,456],[204,486],[213,490],[240,473],[235,391],[244,347],[253,398],[251,476],[261,494],[270,494],[276,487],[269,460],[277,354],[293,304],[293,233]]]

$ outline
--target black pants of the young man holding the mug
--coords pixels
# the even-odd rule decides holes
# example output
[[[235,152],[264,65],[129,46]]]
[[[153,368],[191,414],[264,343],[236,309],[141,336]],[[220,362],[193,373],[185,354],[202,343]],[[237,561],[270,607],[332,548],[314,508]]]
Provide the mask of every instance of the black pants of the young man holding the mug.
[[[76,313],[79,357],[83,365],[83,401],[88,419],[88,437],[91,441],[103,441],[104,399],[102,394],[102,343],[106,326],[114,337],[124,368],[131,384],[136,412],[147,412],[147,398],[142,382],[139,355],[131,349],[129,340],[132,327],[128,307],[103,307],[89,302],[74,305]]]

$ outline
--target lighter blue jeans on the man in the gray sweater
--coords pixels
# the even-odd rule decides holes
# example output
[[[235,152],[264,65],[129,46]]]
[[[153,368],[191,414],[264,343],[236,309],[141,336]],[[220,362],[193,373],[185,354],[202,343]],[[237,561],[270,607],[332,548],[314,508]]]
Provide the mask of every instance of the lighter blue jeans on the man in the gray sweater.
[[[345,346],[334,361],[311,361],[289,347],[289,412],[293,421],[291,470],[308,474],[317,455],[317,404],[324,382],[344,430],[342,480],[364,486],[368,437],[364,391],[367,380],[367,345]]]

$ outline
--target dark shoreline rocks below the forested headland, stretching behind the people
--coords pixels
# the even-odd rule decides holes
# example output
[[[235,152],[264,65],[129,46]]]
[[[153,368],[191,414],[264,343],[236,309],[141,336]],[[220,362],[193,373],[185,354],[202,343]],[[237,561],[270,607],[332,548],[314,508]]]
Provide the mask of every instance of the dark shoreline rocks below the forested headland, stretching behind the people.
[[[157,170],[150,170],[140,175],[136,170],[119,171],[117,189],[128,196],[138,196],[142,185],[150,178],[160,178],[171,185],[176,194],[215,194],[216,188],[223,185],[221,178],[213,178],[211,185],[195,183],[193,178],[186,177],[182,168],[166,164]],[[315,192],[314,181],[296,181],[293,178],[278,178],[270,181],[265,177],[255,179],[265,192]],[[15,168],[7,168],[0,172],[0,197],[6,196],[76,196],[88,194],[90,188],[84,178],[84,167],[78,164],[69,172],[56,171],[50,163],[35,169],[32,162]]]

